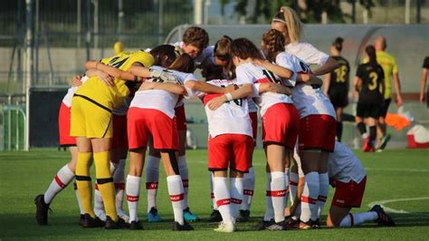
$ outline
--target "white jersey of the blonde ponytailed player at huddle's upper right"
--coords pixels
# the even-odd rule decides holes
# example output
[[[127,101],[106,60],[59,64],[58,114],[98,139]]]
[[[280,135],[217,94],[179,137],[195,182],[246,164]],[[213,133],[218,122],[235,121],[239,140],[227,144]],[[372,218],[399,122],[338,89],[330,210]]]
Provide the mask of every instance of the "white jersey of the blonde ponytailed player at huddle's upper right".
[[[284,49],[286,53],[295,55],[309,64],[323,65],[329,59],[328,54],[320,52],[310,43],[289,43]]]

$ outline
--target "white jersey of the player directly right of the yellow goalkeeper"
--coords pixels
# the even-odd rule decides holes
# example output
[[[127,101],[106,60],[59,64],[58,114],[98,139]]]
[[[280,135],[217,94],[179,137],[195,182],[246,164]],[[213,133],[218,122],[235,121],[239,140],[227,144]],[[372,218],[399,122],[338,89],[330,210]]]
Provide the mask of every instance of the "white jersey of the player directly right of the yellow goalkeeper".
[[[189,80],[195,80],[195,76],[192,73],[171,71],[159,66],[151,66],[150,69],[166,70],[167,72],[175,75],[181,84],[184,84]],[[151,79],[148,79],[146,82],[150,81]],[[179,95],[175,93],[163,90],[138,91],[129,107],[162,111],[173,119],[175,117],[175,106],[178,97]]]

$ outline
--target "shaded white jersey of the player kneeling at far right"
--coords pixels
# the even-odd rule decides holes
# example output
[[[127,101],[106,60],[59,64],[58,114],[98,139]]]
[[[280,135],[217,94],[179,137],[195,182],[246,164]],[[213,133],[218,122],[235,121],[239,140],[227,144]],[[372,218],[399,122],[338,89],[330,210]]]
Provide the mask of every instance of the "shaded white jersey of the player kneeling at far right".
[[[344,144],[335,141],[335,150],[329,153],[328,160],[329,178],[348,183],[354,180],[360,183],[367,173],[359,159]]]

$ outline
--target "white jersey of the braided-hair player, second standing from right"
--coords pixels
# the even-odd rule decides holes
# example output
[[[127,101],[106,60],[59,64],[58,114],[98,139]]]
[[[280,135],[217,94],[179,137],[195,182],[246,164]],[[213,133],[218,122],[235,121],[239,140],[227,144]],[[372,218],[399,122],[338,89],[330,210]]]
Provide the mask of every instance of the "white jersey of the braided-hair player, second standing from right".
[[[253,63],[243,63],[237,66],[235,73],[238,84],[253,84],[253,100],[261,109],[261,116],[265,114],[268,108],[277,103],[292,103],[291,97],[286,94],[263,92],[259,93],[259,86],[264,82],[281,82],[279,77],[275,76],[262,66]]]

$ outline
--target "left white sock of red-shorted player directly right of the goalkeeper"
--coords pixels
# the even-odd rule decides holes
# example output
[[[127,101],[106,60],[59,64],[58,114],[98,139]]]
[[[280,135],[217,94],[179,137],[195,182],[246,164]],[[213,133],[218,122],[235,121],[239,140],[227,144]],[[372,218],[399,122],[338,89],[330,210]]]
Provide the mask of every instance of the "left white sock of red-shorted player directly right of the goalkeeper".
[[[138,221],[137,207],[140,193],[140,177],[127,176],[127,202],[129,204],[129,223]]]

